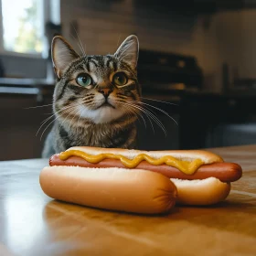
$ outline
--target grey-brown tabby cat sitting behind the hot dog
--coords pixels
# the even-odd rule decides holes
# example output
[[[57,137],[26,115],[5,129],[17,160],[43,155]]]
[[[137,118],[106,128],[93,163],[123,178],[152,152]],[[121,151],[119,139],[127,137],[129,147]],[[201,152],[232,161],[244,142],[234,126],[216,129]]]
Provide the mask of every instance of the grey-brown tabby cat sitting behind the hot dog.
[[[55,121],[42,157],[71,146],[135,148],[142,91],[138,37],[126,37],[113,55],[80,56],[64,37],[56,36],[51,52]]]

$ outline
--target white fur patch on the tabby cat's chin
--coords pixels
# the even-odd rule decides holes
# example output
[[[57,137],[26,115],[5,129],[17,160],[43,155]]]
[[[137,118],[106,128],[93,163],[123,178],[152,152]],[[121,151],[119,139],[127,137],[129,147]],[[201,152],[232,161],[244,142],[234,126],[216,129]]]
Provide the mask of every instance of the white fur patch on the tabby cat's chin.
[[[79,106],[78,113],[80,117],[90,119],[93,123],[110,123],[115,119],[123,116],[123,112],[118,109],[112,108],[112,106],[102,106],[96,110],[87,109],[84,106]]]

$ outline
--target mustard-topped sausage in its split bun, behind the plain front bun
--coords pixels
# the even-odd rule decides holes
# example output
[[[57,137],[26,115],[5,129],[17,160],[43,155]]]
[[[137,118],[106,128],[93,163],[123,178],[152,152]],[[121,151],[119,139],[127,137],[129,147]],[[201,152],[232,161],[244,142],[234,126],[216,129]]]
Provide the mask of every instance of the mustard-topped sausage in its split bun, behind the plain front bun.
[[[140,151],[76,146],[52,155],[49,165],[106,171],[118,167],[131,174],[142,170],[148,175],[158,174],[175,185],[176,202],[183,205],[216,204],[229,196],[230,183],[242,176],[240,165],[225,163],[219,155],[201,150]]]

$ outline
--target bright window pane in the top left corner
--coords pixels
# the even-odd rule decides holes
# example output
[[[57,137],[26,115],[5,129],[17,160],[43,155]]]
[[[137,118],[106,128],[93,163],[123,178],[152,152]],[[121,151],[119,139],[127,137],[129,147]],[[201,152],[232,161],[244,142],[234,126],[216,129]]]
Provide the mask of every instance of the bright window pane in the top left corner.
[[[43,0],[2,0],[6,51],[41,54],[44,50]]]

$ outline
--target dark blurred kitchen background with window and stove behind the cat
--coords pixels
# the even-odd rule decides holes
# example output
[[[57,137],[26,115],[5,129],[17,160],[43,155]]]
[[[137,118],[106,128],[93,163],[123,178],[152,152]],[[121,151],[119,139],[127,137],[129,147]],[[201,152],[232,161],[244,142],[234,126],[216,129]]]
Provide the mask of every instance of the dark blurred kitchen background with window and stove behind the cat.
[[[140,149],[256,144],[256,0],[0,0],[0,11],[0,160],[40,157],[54,35],[80,51],[79,36],[87,54],[139,37],[144,102],[166,130],[141,119]]]

